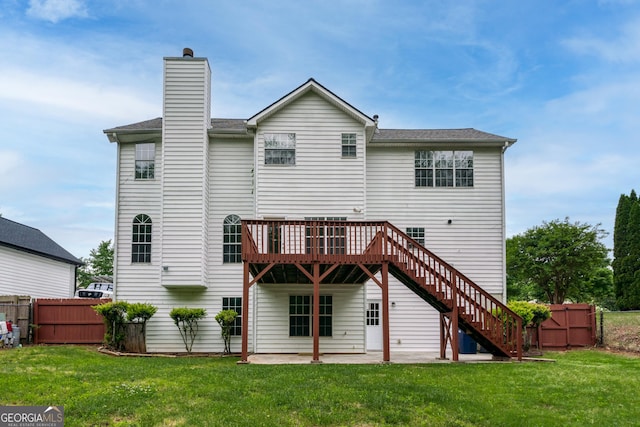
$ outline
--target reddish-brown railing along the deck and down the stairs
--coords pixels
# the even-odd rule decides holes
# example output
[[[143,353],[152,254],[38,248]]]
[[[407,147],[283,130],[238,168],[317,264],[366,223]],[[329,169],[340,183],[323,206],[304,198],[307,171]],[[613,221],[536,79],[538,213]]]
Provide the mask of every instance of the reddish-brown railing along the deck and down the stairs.
[[[250,263],[390,262],[500,348],[521,355],[521,318],[440,257],[385,221],[243,220],[242,259]]]

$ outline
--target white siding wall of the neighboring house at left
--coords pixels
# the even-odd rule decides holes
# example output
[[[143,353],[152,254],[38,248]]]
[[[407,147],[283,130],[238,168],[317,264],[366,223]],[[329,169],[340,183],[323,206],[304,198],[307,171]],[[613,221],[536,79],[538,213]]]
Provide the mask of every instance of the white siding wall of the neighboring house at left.
[[[75,266],[0,246],[0,295],[71,298]]]

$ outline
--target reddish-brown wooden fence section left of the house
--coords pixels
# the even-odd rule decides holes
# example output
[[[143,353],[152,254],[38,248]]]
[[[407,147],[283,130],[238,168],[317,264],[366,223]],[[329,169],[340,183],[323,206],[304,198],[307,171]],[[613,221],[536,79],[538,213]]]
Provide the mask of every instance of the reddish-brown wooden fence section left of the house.
[[[33,304],[35,344],[100,344],[105,327],[91,306],[104,299],[37,299]]]

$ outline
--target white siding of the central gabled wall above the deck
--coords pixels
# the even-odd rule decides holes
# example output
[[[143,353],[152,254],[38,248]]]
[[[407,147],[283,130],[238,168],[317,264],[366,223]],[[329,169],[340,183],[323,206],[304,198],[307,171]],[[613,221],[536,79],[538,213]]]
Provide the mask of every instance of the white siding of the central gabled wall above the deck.
[[[295,133],[295,165],[265,165],[264,134]],[[342,158],[342,134],[354,133],[357,158]],[[314,93],[260,123],[256,135],[257,217],[362,219],[364,128]]]

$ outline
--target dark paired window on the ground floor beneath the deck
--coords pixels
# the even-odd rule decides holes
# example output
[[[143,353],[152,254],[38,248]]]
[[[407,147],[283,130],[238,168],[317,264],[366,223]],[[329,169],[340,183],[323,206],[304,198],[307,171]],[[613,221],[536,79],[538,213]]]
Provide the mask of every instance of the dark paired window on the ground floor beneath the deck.
[[[333,297],[320,295],[320,336],[333,335]],[[313,297],[311,295],[289,296],[289,336],[308,337],[313,330]]]

